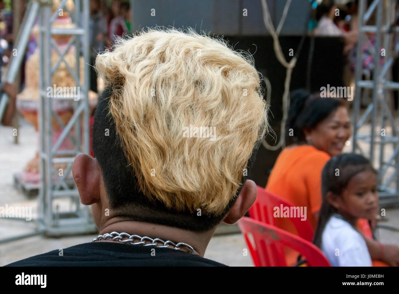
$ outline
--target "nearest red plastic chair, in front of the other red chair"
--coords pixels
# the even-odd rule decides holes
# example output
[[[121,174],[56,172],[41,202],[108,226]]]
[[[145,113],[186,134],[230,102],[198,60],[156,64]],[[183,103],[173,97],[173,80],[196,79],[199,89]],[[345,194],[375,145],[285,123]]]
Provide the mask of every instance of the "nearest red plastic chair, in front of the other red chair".
[[[331,266],[319,248],[294,234],[245,216],[238,221],[238,226],[255,266],[287,266],[284,246],[298,251],[306,258],[308,266]],[[252,234],[255,244],[249,239],[249,233]]]

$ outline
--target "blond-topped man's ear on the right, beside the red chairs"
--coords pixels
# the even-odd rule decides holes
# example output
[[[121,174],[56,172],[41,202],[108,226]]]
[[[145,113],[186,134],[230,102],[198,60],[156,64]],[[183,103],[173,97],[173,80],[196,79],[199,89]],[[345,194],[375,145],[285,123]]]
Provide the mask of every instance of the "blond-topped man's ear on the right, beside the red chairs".
[[[241,188],[240,194],[227,213],[223,222],[226,224],[235,224],[240,218],[247,213],[249,208],[256,200],[257,188],[254,181],[246,180]]]

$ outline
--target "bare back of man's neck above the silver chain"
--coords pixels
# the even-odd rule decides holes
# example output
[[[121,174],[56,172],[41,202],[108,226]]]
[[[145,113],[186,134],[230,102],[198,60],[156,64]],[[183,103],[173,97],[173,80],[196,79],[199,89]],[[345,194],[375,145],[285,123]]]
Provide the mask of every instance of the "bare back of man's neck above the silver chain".
[[[214,231],[215,229],[209,230],[207,232],[198,233],[180,228],[164,226],[160,224],[126,220],[120,217],[113,217],[107,220],[99,228],[100,235],[111,232],[118,232],[118,233],[124,232],[130,235],[134,234],[141,237],[147,236],[152,239],[160,238],[163,241],[170,240],[175,244],[183,242],[192,246],[192,248],[194,248],[194,254],[198,254],[201,257],[203,257],[205,249]],[[108,242],[115,242],[115,241],[108,241]]]

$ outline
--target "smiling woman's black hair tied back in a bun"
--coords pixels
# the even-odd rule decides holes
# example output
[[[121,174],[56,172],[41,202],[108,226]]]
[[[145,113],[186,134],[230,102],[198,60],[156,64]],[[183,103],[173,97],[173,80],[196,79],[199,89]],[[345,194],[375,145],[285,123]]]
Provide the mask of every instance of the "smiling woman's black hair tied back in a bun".
[[[292,91],[286,122],[286,145],[305,143],[304,130],[315,128],[339,106],[346,106],[342,98],[320,98],[320,93],[310,94],[304,89]]]

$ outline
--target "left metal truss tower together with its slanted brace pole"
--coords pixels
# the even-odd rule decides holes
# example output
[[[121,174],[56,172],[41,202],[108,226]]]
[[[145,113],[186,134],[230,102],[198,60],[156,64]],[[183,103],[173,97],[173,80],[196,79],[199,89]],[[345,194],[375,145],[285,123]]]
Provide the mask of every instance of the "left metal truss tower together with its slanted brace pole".
[[[18,236],[8,236],[1,242],[8,242],[45,234],[46,236],[62,236],[67,234],[83,234],[97,232],[89,207],[80,203],[79,192],[71,177],[72,164],[79,153],[89,154],[89,1],[75,0],[74,10],[69,11],[65,5],[67,0],[62,0],[55,12],[51,13],[52,0],[31,0],[28,4],[24,21],[20,27],[16,48],[24,52],[28,44],[30,30],[34,20],[39,19],[39,52],[40,52],[40,77],[39,77],[39,134],[40,134],[40,192],[38,198],[37,227],[34,232]],[[71,17],[72,24],[68,27],[53,27],[53,22],[60,11],[66,11]],[[57,36],[71,36],[66,46],[60,47],[53,38]],[[71,46],[75,47],[75,66],[72,68],[65,60],[65,54]],[[62,49],[60,49],[62,48]],[[54,52],[56,54],[54,54]],[[51,56],[57,60],[51,60]],[[18,54],[23,56],[23,54]],[[83,55],[84,83],[81,84],[80,63]],[[14,82],[16,72],[22,58],[13,58],[10,61],[10,70],[7,81]],[[76,83],[76,95],[48,95],[48,88],[53,88],[51,78],[58,66],[64,62],[65,67]],[[61,81],[62,82],[62,81]],[[57,85],[55,85],[57,86]],[[70,87],[68,87],[70,88]],[[65,92],[64,92],[65,94]],[[75,94],[75,92],[74,92]],[[6,95],[4,98],[7,98]],[[48,97],[50,96],[50,97]],[[2,99],[3,104],[6,99]],[[73,104],[73,115],[67,122],[63,120],[54,109],[55,100],[69,101]],[[4,105],[0,105],[4,108]],[[53,121],[62,129],[57,140],[53,142]],[[63,141],[68,138],[72,142],[71,150],[59,150]],[[65,168],[55,168],[61,164]],[[17,219],[17,218],[14,218]]]

